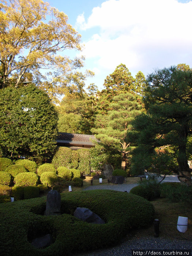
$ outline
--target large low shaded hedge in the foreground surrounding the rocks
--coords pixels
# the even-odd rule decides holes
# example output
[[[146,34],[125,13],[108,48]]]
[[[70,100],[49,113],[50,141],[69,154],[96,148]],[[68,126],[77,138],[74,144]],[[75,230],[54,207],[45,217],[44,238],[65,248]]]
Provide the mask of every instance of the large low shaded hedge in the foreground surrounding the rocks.
[[[89,208],[106,224],[80,221],[73,216],[76,207]],[[46,197],[0,205],[1,255],[63,256],[114,246],[130,229],[146,226],[154,217],[147,200],[111,190],[64,193],[59,216],[44,216],[45,208]],[[45,249],[30,244],[45,234],[52,235],[53,244]]]

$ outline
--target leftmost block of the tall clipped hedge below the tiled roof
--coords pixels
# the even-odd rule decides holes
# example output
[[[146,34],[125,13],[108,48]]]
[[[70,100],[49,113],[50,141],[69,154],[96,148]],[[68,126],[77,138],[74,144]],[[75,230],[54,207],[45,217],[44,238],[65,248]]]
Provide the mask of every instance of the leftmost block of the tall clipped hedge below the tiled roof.
[[[59,166],[71,167],[72,150],[68,147],[58,147],[53,156],[52,164],[57,169]]]

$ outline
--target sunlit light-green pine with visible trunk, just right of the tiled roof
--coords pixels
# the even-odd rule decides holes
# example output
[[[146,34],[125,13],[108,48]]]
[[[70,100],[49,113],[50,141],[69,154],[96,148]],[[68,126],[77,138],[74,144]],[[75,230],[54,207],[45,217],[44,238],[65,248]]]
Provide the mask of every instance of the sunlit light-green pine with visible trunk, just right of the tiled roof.
[[[96,116],[97,128],[92,129],[92,132],[97,134],[99,144],[102,144],[106,151],[116,150],[121,153],[121,168],[124,170],[129,161],[128,153],[131,148],[127,132],[132,129],[131,121],[141,113],[142,109],[137,97],[139,96],[131,93],[114,96],[109,104],[108,115]]]

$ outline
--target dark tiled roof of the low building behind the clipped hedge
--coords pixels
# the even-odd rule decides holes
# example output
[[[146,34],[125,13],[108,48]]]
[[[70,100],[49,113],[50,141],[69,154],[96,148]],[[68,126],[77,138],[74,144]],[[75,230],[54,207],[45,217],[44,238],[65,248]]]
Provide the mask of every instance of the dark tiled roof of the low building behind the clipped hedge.
[[[93,146],[93,142],[90,139],[95,139],[94,135],[86,135],[86,134],[77,134],[77,133],[65,133],[59,132],[57,137],[57,143],[66,143],[71,146],[76,145],[89,145]]]

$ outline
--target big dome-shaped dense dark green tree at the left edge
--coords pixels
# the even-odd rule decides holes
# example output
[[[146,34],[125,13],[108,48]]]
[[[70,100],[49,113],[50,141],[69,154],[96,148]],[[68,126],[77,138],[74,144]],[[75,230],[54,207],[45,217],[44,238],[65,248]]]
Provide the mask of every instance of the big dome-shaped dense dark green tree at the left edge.
[[[56,148],[57,112],[48,95],[30,85],[0,94],[0,154],[49,158]]]

